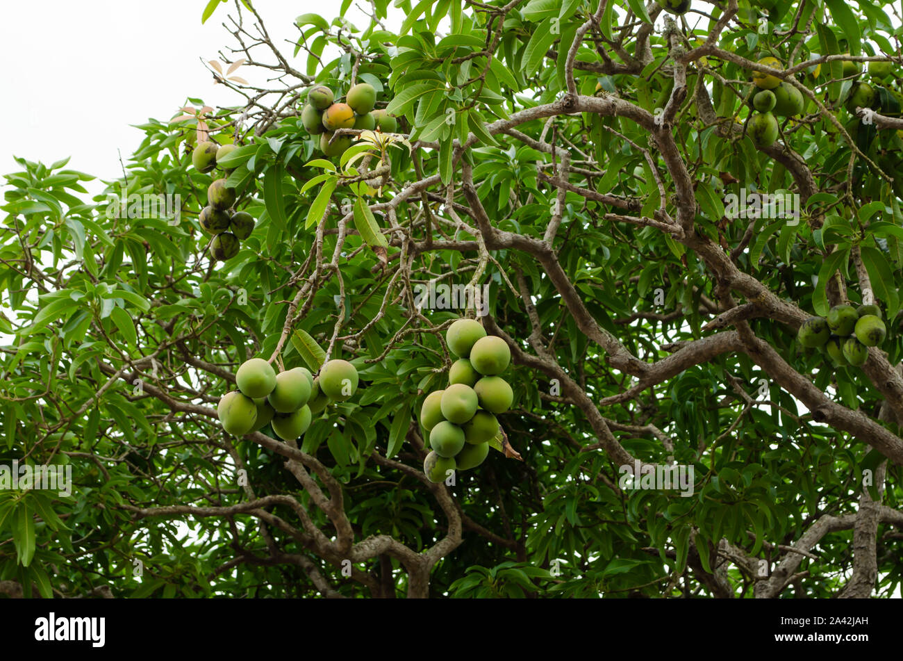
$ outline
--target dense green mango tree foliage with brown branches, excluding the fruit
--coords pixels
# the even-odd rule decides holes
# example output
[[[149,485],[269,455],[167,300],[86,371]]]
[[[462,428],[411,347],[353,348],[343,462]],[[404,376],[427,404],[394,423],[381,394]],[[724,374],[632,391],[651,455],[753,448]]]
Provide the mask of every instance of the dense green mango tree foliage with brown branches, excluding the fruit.
[[[68,464],[73,485],[0,490],[3,591],[898,591],[896,10],[397,0],[398,25],[387,5],[366,26],[300,16],[285,53],[250,3],[219,10],[268,87],[217,64],[237,106],[148,121],[107,186],[171,196],[175,219],[89,199],[65,162],[6,176],[0,464]],[[753,71],[805,98],[773,144],[747,135]],[[874,112],[847,108],[857,79],[884,90]],[[326,159],[307,89],[360,81],[398,132]],[[223,167],[256,219],[225,262],[197,222],[207,132],[238,145]],[[726,209],[749,192],[798,218]],[[453,485],[425,479],[417,418],[447,383],[444,331],[474,312],[418,306],[431,283],[488,285],[477,319],[513,356],[509,444]],[[797,342],[806,318],[873,301],[888,338],[861,368]],[[315,370],[312,342],[358,368],[356,396],[297,444],[223,433],[237,366]],[[629,488],[635,461],[692,467],[692,493]]]

